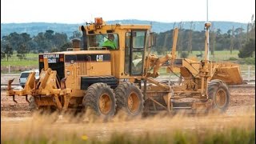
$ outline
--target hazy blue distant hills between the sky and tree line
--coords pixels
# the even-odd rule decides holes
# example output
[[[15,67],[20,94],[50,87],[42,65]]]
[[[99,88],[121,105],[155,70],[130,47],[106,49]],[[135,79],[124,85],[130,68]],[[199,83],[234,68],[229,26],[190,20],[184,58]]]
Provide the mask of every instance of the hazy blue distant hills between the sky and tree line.
[[[165,32],[167,30],[171,30],[174,27],[174,22],[152,22],[152,21],[141,21],[136,19],[129,20],[116,20],[116,21],[108,21],[108,24],[152,24],[152,29],[156,33]],[[204,29],[205,22],[193,22],[194,30],[202,31]],[[220,29],[222,33],[226,33],[227,30],[232,29],[234,26],[234,30],[238,27],[242,27],[246,30],[246,23],[239,22],[211,22],[214,26],[214,29]],[[78,26],[84,25],[81,24],[65,24],[65,23],[46,23],[46,22],[30,22],[30,23],[1,23],[1,38],[4,35],[8,35],[13,32],[17,32],[18,34],[27,33],[30,36],[37,35],[40,32],[45,32],[46,30],[54,30],[54,32],[58,33],[66,33],[68,37],[70,37],[74,31],[78,30]],[[175,23],[175,26],[179,26],[179,22]],[[190,22],[183,22],[183,29],[190,29]]]

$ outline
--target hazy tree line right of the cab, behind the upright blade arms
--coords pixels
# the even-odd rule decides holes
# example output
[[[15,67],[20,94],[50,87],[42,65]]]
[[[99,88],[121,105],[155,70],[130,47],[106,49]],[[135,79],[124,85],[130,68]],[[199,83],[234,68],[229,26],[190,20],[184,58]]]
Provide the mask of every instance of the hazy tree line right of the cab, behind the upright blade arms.
[[[205,49],[205,30],[194,31],[192,26],[189,30],[182,29],[182,23],[178,25],[178,54],[191,54],[192,50],[204,51]],[[158,54],[170,52],[173,45],[174,30],[158,34],[157,47],[154,48]],[[247,29],[242,27],[231,28],[226,33],[220,29],[215,30],[214,24],[210,27],[210,51],[214,50],[239,50],[239,58],[252,57],[255,52],[255,20],[248,23]]]

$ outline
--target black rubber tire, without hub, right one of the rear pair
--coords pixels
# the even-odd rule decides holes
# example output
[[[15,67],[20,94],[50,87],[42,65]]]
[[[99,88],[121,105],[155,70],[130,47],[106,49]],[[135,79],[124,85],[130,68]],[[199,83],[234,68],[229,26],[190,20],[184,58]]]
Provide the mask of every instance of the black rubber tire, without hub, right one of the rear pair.
[[[142,91],[139,90],[138,86],[135,86],[134,83],[122,82],[114,90],[117,98],[117,113],[119,111],[124,111],[125,114],[129,117],[137,117],[142,115],[144,109],[144,99]],[[138,96],[139,104],[138,110],[136,112],[131,112],[128,108],[128,97],[134,92]]]

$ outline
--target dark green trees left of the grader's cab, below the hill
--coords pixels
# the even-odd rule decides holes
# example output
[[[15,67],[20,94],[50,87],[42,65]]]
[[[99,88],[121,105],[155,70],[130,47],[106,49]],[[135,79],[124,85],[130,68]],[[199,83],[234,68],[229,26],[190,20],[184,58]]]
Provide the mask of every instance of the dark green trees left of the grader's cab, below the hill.
[[[1,39],[1,59],[8,59],[17,51],[17,57],[26,58],[28,53],[44,53],[54,51],[65,51],[71,47],[70,39],[79,38],[81,34],[74,31],[73,35],[68,38],[65,33],[57,33],[54,30],[38,33],[34,37],[30,34],[16,32],[3,36]]]

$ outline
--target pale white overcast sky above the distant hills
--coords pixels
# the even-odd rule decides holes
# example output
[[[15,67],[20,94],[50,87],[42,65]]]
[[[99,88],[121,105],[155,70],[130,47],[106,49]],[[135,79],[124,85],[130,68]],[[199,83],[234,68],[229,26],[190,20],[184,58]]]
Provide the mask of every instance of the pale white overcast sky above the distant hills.
[[[207,0],[1,0],[1,23],[93,22],[138,19],[156,22],[203,21]],[[251,21],[255,0],[208,0],[208,21]],[[255,18],[254,18],[255,19]]]

